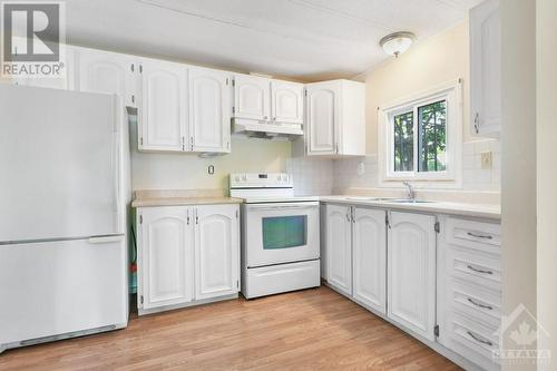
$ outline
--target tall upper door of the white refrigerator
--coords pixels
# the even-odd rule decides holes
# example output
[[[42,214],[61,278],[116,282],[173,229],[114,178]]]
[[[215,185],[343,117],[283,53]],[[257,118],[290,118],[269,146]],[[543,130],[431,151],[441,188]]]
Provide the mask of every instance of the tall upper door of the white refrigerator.
[[[123,232],[117,106],[111,95],[0,85],[0,243]]]

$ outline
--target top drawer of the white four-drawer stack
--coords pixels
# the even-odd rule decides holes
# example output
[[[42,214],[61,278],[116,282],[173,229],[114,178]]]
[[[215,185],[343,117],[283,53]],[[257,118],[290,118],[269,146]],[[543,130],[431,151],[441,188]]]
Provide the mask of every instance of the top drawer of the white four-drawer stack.
[[[447,219],[447,242],[463,250],[500,254],[500,225],[494,223]]]

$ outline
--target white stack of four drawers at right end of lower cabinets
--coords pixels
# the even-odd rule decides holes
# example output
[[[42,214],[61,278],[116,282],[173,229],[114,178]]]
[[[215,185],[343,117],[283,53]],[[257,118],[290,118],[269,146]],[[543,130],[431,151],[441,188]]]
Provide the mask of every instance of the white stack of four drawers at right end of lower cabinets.
[[[485,370],[499,370],[501,325],[500,225],[441,219],[438,260],[438,341]]]

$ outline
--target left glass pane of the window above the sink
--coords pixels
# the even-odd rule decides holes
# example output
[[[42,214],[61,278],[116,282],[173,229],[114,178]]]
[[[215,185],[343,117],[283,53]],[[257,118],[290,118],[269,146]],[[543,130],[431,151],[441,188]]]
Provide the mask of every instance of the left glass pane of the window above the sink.
[[[413,113],[393,117],[394,124],[394,172],[412,172],[414,163]]]

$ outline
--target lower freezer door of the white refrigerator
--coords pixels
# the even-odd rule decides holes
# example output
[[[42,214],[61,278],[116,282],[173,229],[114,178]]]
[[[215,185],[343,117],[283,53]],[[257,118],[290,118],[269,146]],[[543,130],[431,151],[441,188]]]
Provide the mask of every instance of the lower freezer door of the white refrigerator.
[[[126,262],[123,235],[0,245],[0,350],[126,326]]]

